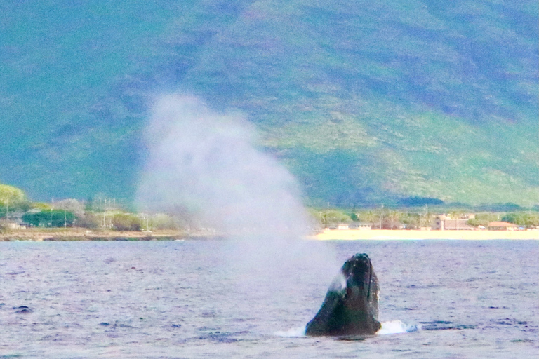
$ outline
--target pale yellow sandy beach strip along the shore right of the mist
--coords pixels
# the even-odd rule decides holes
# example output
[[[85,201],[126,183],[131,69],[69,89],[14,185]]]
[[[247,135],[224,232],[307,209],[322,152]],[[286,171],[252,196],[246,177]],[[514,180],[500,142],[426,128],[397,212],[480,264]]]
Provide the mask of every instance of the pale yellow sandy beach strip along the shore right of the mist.
[[[329,230],[310,236],[317,240],[417,240],[417,239],[453,239],[453,240],[539,240],[539,230],[528,231],[405,231],[389,229],[343,229]]]

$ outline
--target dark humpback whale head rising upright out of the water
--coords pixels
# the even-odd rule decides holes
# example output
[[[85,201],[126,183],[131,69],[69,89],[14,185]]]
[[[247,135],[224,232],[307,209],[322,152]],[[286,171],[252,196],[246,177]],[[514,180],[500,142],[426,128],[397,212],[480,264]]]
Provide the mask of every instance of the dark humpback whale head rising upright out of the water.
[[[380,287],[371,259],[357,254],[342,265],[317,315],[307,323],[311,336],[368,337],[380,330]]]

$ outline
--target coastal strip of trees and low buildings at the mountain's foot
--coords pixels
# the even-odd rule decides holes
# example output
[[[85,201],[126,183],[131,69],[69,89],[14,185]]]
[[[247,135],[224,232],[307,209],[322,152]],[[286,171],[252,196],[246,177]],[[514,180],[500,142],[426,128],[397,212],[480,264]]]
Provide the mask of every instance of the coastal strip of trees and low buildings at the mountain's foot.
[[[344,237],[357,233],[354,235],[357,238],[387,236],[378,232],[383,230],[392,231],[391,236],[395,236],[397,231],[411,231],[403,232],[400,235],[403,238],[413,232],[421,238],[438,238],[438,234],[420,232],[445,230],[448,236],[451,230],[525,231],[539,227],[539,211],[536,208],[522,210],[518,206],[508,206],[499,212],[470,212],[470,208],[388,208],[380,205],[379,208],[307,208],[307,213],[310,232],[318,238],[334,237],[335,234],[328,234],[331,231]],[[359,234],[366,229],[373,230],[373,233]],[[128,205],[105,196],[86,201],[69,198],[51,203],[32,202],[22,190],[0,184],[0,241],[47,241],[51,238],[58,241],[152,240],[212,236],[222,236],[222,233],[208,228],[187,210],[175,213],[136,212]]]

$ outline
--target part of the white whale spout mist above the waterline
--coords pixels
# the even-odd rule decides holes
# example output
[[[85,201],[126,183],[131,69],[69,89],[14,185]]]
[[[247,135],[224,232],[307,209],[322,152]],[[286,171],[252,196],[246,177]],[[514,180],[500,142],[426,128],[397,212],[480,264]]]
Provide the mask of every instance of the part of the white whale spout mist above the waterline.
[[[305,234],[298,185],[256,149],[243,116],[217,114],[196,97],[166,95],[152,109],[147,143],[138,198],[148,208],[184,209],[229,234]]]

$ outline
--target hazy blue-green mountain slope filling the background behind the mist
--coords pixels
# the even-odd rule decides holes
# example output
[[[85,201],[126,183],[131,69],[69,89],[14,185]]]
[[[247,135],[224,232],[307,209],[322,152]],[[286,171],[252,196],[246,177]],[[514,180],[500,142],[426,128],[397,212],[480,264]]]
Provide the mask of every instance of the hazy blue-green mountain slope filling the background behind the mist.
[[[536,1],[0,8],[0,182],[32,198],[131,198],[180,91],[243,111],[313,204],[538,202]]]

